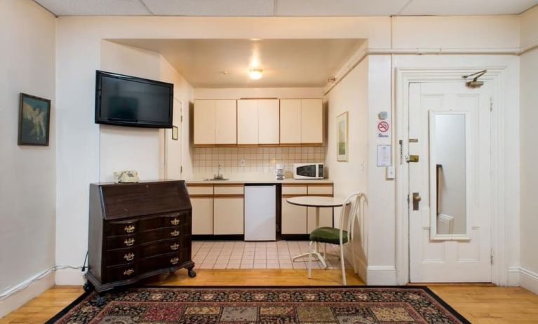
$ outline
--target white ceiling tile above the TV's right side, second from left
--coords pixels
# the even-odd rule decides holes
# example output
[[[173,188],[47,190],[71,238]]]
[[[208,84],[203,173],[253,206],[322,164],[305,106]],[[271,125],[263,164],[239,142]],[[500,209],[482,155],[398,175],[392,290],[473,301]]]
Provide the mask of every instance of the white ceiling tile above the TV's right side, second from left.
[[[273,0],[143,0],[154,15],[271,16]]]

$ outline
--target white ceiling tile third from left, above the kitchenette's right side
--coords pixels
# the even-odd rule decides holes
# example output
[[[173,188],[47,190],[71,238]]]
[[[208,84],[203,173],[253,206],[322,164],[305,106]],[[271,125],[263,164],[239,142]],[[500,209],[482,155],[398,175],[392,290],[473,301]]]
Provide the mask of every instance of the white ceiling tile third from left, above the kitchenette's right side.
[[[278,0],[279,16],[396,15],[409,0]]]

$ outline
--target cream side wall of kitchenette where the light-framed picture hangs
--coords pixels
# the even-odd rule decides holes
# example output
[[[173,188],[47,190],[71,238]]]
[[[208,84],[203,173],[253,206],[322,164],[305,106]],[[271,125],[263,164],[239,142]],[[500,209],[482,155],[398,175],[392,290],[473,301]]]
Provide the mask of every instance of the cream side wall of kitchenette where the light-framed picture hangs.
[[[368,196],[368,66],[365,58],[347,76],[332,88],[325,97],[328,107],[328,139],[325,165],[330,180],[334,182],[335,196],[346,197],[361,191]],[[336,120],[339,114],[348,112],[349,158],[337,161]],[[335,224],[339,224],[340,208],[335,208]],[[365,247],[361,245],[360,231],[356,228],[354,250],[358,256],[359,275],[367,280],[368,260]],[[351,263],[349,252],[347,259]]]

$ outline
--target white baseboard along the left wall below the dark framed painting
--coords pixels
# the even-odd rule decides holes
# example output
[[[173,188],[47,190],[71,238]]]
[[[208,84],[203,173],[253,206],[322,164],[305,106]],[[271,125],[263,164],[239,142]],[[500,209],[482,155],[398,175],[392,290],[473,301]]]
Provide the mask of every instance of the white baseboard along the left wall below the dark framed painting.
[[[0,318],[15,311],[30,299],[54,285],[54,268],[46,269],[36,276],[0,293]]]

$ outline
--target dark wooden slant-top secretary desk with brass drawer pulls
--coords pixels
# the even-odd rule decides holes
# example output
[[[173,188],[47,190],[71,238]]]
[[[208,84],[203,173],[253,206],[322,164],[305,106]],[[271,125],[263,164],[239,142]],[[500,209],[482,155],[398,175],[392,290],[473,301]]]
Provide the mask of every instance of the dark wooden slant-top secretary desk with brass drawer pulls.
[[[90,184],[88,283],[103,292],[187,268],[192,208],[184,181]]]

